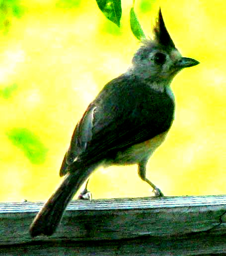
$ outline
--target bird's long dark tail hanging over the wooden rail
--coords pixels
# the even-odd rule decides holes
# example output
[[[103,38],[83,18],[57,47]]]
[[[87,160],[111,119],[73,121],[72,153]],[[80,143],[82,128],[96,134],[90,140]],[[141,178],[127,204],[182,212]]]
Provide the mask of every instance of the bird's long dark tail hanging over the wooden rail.
[[[45,203],[30,226],[30,235],[52,235],[61,221],[63,213],[80,186],[88,178],[93,168],[76,170],[66,174],[63,182]]]

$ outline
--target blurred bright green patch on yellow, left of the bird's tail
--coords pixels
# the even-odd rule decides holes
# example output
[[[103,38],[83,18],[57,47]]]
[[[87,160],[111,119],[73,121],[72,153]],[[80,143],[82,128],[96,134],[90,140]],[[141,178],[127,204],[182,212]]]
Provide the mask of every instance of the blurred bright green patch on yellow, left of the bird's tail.
[[[22,149],[31,163],[42,164],[45,161],[47,148],[38,135],[27,128],[13,128],[6,134],[15,146]]]

